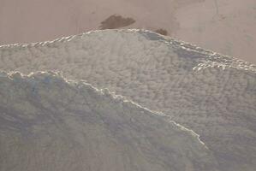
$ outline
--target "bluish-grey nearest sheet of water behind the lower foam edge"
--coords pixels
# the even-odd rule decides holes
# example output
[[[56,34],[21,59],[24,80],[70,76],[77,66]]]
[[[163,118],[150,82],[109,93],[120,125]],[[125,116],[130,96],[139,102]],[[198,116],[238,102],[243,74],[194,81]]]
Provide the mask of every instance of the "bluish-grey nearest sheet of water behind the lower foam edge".
[[[1,170],[217,170],[164,115],[52,72],[0,74]]]

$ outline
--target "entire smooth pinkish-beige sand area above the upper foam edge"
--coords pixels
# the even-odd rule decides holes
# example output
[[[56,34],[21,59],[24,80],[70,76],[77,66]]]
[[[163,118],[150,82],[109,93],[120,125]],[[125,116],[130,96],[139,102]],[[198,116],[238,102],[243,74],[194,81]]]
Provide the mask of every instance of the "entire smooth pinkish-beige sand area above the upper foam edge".
[[[0,0],[0,4],[0,44],[100,29],[110,16],[120,15],[123,21],[112,26],[164,29],[175,38],[256,63],[254,0]],[[123,25],[127,18],[135,22]]]

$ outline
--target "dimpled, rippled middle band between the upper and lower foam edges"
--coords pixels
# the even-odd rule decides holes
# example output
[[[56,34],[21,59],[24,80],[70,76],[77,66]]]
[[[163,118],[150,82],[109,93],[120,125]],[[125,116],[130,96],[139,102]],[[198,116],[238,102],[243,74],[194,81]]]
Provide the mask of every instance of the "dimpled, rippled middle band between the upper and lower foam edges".
[[[105,30],[0,47],[0,68],[68,79],[163,111],[199,133],[223,170],[256,168],[256,67],[153,32]]]

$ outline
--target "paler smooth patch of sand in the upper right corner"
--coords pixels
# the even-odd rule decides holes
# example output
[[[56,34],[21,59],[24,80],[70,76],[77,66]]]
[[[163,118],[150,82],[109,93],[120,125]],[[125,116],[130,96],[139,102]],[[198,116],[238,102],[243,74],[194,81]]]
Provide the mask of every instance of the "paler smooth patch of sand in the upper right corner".
[[[176,11],[176,38],[256,63],[256,1],[205,1]]]

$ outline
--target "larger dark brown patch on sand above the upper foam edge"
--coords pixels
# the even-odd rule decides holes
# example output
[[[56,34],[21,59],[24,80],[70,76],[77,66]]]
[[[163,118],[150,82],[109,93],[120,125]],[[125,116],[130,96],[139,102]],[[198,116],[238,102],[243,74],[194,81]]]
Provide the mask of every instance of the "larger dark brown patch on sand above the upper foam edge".
[[[133,18],[124,18],[121,15],[110,15],[109,18],[101,22],[100,29],[115,29],[121,27],[127,27],[134,24]]]

